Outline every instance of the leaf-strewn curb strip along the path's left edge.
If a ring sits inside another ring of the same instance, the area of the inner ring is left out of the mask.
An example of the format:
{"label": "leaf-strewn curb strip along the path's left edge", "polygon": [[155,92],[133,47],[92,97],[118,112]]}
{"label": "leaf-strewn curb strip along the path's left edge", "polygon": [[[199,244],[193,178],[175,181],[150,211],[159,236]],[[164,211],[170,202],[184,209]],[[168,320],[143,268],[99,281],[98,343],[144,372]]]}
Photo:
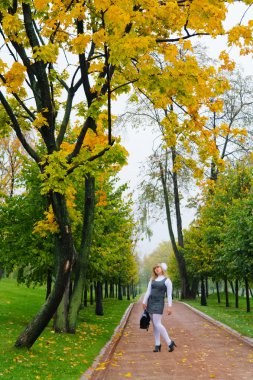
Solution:
{"label": "leaf-strewn curb strip along the path's left edge", "polygon": [[99,352],[98,356],[93,361],[92,366],[89,367],[84,372],[84,374],[80,377],[79,380],[89,380],[91,378],[92,374],[95,372],[95,369],[97,368],[99,362],[101,362],[101,359],[103,359],[103,362],[106,362],[109,360],[109,357],[111,357],[111,355],[115,351],[117,344],[118,344],[118,342],[119,342],[119,340],[123,334],[123,331],[126,327],[126,324],[127,324],[128,319],[130,317],[133,306],[134,306],[134,302],[130,303],[130,305],[126,309],[125,313],[123,314],[123,317],[121,318],[120,323],[115,328],[111,339],[104,345],[104,347]]}

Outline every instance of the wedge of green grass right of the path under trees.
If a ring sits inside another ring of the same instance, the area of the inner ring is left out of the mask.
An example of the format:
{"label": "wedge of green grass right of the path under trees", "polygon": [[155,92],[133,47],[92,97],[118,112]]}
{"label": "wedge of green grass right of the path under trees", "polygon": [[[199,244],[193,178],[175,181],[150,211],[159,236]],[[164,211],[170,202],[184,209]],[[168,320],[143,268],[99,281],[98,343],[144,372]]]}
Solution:
{"label": "wedge of green grass right of the path under trees", "polygon": [[[221,303],[218,304],[216,294],[209,295],[207,298],[207,306],[200,305],[200,299],[195,301],[185,301],[187,304],[195,307],[210,317],[224,323],[232,329],[238,331],[244,336],[253,338],[253,313],[246,312],[246,299],[239,297],[239,308],[236,309],[235,298],[232,294],[229,295],[230,307],[226,307],[225,294],[221,293]],[[252,299],[251,299],[251,307]]]}

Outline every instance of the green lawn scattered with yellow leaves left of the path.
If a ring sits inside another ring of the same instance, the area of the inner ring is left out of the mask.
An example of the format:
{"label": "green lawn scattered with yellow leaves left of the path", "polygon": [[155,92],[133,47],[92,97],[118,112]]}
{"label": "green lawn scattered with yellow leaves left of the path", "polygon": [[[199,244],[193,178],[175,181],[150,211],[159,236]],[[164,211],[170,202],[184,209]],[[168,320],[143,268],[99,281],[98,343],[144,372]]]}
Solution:
{"label": "green lawn scattered with yellow leaves left of the path", "polygon": [[76,334],[55,334],[51,324],[30,350],[16,349],[19,334],[38,312],[45,289],[0,281],[0,379],[78,380],[110,340],[130,301],[104,300],[104,316],[94,305],[80,312]]}

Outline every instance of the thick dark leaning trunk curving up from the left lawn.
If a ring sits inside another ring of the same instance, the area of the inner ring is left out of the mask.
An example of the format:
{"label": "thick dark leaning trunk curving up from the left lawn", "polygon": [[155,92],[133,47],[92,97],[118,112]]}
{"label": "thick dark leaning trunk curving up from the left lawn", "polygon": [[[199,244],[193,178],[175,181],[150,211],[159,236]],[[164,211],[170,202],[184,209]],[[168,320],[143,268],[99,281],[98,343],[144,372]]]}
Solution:
{"label": "thick dark leaning trunk curving up from the left lawn", "polygon": [[60,233],[56,236],[55,284],[39,313],[18,337],[15,343],[15,347],[18,348],[32,347],[56,312],[69,281],[74,258],[74,245],[64,196],[58,193],[52,194],[52,205],[60,228]]}

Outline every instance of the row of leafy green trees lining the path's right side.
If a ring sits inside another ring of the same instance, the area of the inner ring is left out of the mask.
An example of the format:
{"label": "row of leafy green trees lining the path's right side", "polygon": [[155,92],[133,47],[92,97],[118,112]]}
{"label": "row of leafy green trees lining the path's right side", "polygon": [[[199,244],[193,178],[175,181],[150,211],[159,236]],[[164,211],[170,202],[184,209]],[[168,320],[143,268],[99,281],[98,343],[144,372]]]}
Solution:
{"label": "row of leafy green trees lining the path's right side", "polygon": [[[253,281],[253,162],[247,157],[219,175],[207,188],[196,220],[185,232],[185,257],[191,275],[202,282],[202,304],[206,303],[204,279],[235,281],[236,305],[239,284],[245,287],[250,311],[249,285]],[[218,288],[218,287],[217,287]],[[228,296],[227,296],[228,303]]]}

